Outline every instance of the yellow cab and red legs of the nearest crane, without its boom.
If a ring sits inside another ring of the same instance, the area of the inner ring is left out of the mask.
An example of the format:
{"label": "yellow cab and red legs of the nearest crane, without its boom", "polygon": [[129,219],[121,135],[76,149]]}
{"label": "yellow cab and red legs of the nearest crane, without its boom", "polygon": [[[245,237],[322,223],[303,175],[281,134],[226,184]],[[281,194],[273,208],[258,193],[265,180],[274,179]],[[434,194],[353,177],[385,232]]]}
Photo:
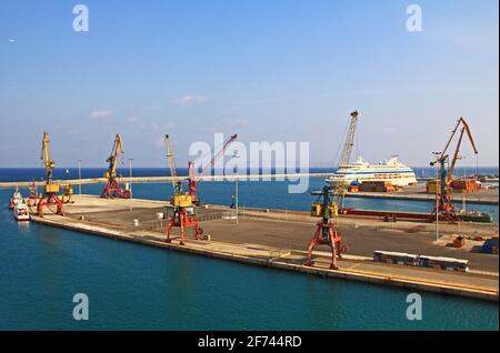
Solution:
{"label": "yellow cab and red legs of the nearest crane, without its boom", "polygon": [[[331,195],[333,194],[333,198]],[[317,223],[314,236],[308,249],[307,266],[313,265],[312,251],[317,245],[328,245],[331,249],[331,270],[338,270],[337,258],[341,258],[342,253],[347,251],[346,245],[342,244],[342,233],[337,226],[337,222],[332,219],[338,215],[338,198],[340,193],[338,190],[331,190],[330,186],[324,185],[319,193],[317,203],[311,206],[311,215],[319,216],[321,220]]]}

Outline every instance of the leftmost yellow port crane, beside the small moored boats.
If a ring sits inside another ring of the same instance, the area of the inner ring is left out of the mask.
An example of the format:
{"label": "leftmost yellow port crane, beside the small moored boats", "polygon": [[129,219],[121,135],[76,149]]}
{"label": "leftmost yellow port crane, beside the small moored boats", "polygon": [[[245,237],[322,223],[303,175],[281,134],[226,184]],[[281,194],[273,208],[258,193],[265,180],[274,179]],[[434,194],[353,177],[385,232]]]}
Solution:
{"label": "leftmost yellow port crane, beside the small moored boats", "polygon": [[43,216],[44,208],[56,206],[56,213],[59,215],[63,215],[62,201],[58,196],[60,186],[58,183],[53,182],[52,179],[56,162],[51,159],[50,155],[49,133],[47,131],[43,132],[42,152],[40,159],[43,161],[46,168],[46,184],[43,185],[43,193],[39,198],[37,203],[37,214],[39,216]]}

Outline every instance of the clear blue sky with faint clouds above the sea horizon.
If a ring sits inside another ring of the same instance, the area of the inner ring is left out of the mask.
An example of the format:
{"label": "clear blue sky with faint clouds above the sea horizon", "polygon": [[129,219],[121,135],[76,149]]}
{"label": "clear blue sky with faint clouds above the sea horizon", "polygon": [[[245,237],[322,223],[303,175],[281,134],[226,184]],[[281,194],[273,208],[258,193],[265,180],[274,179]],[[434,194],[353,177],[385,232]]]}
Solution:
{"label": "clear blue sky with faint clouds above the sea horizon", "polygon": [[43,129],[61,167],[106,167],[116,132],[138,167],[167,164],[169,132],[181,164],[213,131],[309,141],[326,167],[354,109],[369,161],[428,165],[463,115],[498,165],[498,0],[0,0],[0,167],[40,165]]}

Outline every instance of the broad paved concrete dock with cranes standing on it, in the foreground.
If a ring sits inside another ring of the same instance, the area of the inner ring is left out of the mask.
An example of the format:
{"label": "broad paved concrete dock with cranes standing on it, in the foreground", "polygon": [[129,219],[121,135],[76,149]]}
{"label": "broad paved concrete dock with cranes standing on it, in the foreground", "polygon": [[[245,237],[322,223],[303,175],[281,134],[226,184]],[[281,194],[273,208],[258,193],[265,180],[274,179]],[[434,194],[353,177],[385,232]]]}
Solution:
{"label": "broad paved concrete dock with cranes standing on it, in the foreground", "polygon": [[[328,253],[314,253],[314,266],[306,266],[307,244],[316,220],[306,212],[271,210],[240,210],[237,219],[228,208],[199,208],[199,218],[206,240],[188,236],[179,245],[177,236],[166,242],[166,203],[151,200],[100,199],[74,196],[73,204],[64,205],[64,216],[46,213],[33,216],[37,223],[64,228],[82,233],[130,241],[167,250],[182,251],[269,268],[299,271],[326,278],[389,284],[417,291],[431,291],[498,301],[498,256],[476,253],[471,248],[447,246],[454,229],[442,224],[442,236],[433,241],[432,224],[414,222],[386,223],[372,219],[339,218],[339,228],[346,232],[346,243],[353,252],[339,260],[340,270],[329,270]],[[137,220],[137,222],[134,222]],[[430,228],[429,228],[430,226]],[[462,232],[492,234],[491,224],[462,225]],[[394,241],[399,240],[399,241]],[[373,250],[408,251],[429,255],[469,259],[469,273],[389,265],[371,261]]]}

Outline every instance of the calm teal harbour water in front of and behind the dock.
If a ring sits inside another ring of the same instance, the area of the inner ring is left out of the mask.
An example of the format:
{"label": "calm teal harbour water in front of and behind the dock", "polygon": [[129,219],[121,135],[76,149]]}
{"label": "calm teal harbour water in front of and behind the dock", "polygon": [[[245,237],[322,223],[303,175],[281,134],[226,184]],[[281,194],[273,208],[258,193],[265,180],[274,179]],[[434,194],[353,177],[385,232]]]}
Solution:
{"label": "calm teal harbour water in front of and behind the dock", "polygon": [[[311,189],[318,185],[321,180],[313,180]],[[229,204],[233,188],[207,182],[200,194],[206,202]],[[137,184],[134,193],[167,199],[170,184]],[[0,190],[0,204],[10,195]],[[248,206],[290,210],[311,202],[307,194],[288,195],[282,182],[240,183],[240,196]],[[497,303],[422,293],[423,320],[410,322],[404,290],[19,225],[3,206],[0,285],[0,330],[498,330],[499,324]],[[90,321],[72,319],[74,293],[89,295]]]}

